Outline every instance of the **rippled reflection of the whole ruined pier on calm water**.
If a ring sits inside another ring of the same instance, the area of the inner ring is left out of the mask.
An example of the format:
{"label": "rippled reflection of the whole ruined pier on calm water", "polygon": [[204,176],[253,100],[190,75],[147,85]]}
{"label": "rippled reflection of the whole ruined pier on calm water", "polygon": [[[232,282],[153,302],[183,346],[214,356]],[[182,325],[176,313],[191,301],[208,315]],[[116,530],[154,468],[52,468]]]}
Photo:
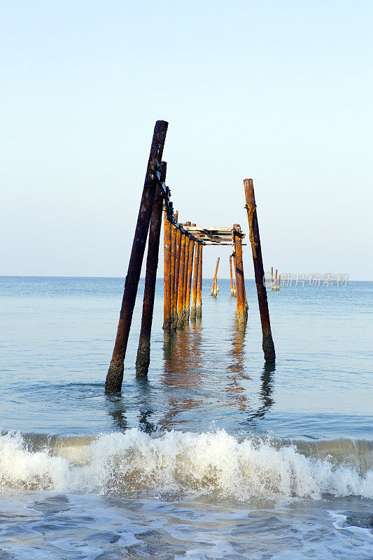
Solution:
{"label": "rippled reflection of the whole ruined pier on calm water", "polygon": [[203,319],[175,333],[162,349],[157,377],[136,377],[118,395],[106,395],[113,427],[156,430],[255,428],[274,405],[274,365],[253,372],[247,334],[232,318],[228,335],[213,340]]}

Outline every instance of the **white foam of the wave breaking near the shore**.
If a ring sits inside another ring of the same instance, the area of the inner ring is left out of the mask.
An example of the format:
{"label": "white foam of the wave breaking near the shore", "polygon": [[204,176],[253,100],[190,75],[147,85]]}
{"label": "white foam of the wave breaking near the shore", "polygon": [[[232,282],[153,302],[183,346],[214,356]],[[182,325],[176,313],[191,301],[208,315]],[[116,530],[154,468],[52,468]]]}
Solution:
{"label": "white foam of the wave breaking near the shore", "polygon": [[9,433],[0,436],[0,489],[195,493],[243,501],[317,500],[325,494],[372,498],[373,471],[335,464],[332,457],[306,456],[295,444],[240,441],[225,430],[150,437],[133,429],[96,439],[60,439],[44,449]]}

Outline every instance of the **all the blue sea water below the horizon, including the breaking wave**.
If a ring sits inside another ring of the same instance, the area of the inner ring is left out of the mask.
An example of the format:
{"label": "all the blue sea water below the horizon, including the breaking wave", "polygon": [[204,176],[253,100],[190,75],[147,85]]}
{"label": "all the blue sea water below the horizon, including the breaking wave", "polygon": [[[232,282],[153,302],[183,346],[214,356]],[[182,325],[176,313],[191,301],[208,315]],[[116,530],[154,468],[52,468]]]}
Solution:
{"label": "all the blue sea water below the horizon, including the breaking wave", "polygon": [[2,277],[0,559],[373,558],[373,283],[268,293],[246,332],[230,281],[106,395],[123,279]]}

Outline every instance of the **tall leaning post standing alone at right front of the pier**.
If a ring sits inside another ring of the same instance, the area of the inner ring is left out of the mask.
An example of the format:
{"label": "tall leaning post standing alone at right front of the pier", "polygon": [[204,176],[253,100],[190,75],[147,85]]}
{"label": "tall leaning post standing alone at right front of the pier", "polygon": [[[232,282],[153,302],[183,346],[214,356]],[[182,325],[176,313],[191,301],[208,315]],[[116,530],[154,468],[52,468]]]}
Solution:
{"label": "tall leaning post standing alone at right front of the pier", "polygon": [[276,353],[272,339],[271,323],[269,321],[269,309],[267,301],[267,290],[265,288],[265,271],[263,268],[262,249],[260,247],[258,214],[256,211],[254,186],[252,179],[244,180],[246,210],[248,216],[248,227],[250,230],[251,248],[253,251],[253,262],[255,272],[255,283],[258,292],[258,303],[260,321],[262,322],[263,352],[266,362],[274,362]]}

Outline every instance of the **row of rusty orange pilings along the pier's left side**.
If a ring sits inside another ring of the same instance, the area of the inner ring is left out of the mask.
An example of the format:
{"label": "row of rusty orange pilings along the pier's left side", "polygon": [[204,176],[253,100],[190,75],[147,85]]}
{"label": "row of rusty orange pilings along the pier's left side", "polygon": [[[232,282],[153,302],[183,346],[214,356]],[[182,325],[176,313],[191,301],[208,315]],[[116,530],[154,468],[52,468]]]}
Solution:
{"label": "row of rusty orange pilings along the pier's left side", "polygon": [[[177,222],[177,213],[174,219]],[[176,228],[164,211],[164,342],[171,342],[189,319],[202,317],[202,247],[202,242]]]}

